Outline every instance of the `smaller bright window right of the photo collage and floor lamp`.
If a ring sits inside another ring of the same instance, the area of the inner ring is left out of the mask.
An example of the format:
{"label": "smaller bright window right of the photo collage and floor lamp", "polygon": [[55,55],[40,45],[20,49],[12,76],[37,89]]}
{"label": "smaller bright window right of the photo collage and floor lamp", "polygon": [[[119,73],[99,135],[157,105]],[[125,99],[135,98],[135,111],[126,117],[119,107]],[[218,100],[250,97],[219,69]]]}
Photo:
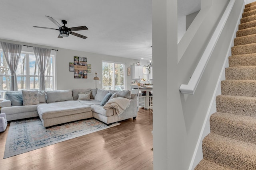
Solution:
{"label": "smaller bright window right of the photo collage and floor lamp", "polygon": [[104,90],[125,90],[125,64],[102,62],[102,89]]}

